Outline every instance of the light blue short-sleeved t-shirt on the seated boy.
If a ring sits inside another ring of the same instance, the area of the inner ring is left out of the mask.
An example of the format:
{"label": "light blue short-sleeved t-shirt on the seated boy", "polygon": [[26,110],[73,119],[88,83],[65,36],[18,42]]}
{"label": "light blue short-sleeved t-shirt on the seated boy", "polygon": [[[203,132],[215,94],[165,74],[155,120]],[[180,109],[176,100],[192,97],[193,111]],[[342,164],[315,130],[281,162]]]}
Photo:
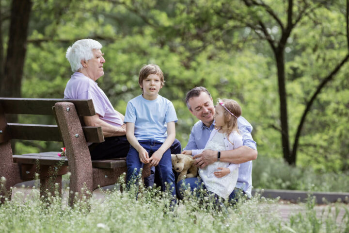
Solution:
{"label": "light blue short-sleeved t-shirt on the seated boy", "polygon": [[127,103],[124,122],[135,124],[138,141],[155,139],[164,142],[167,138],[167,122],[177,122],[174,105],[158,95],[156,100],[146,100],[142,95]]}

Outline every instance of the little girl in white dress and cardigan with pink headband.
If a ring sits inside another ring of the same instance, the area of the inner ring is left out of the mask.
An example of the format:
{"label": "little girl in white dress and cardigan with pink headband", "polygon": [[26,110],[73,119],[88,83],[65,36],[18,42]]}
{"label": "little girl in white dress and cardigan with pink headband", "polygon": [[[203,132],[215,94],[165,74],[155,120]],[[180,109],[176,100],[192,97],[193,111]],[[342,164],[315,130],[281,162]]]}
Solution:
{"label": "little girl in white dress and cardigan with pink headband", "polygon": [[[215,129],[203,150],[185,150],[185,154],[196,155],[204,150],[233,150],[242,146],[242,137],[238,133],[238,117],[241,107],[235,100],[218,100],[215,108]],[[219,157],[219,156],[218,156]],[[238,181],[238,164],[218,161],[199,168],[199,174],[208,191],[226,199],[233,192]]]}

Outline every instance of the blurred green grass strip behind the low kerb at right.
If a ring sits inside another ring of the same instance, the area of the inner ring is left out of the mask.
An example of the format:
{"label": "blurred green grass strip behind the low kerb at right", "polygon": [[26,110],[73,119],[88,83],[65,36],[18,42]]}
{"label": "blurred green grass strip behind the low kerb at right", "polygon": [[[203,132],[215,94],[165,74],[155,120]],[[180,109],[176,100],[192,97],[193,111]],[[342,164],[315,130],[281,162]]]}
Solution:
{"label": "blurred green grass strip behind the low kerb at right", "polygon": [[319,173],[310,167],[289,166],[283,159],[258,156],[253,162],[254,188],[319,192],[349,192],[349,172]]}

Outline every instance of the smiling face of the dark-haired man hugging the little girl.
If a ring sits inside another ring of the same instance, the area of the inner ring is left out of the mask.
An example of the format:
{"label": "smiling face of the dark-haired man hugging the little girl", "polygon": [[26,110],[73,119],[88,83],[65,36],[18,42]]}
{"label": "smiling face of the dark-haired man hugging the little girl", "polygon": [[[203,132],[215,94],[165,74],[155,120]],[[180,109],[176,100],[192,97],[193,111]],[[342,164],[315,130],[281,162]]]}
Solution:
{"label": "smiling face of the dark-haired man hugging the little girl", "polygon": [[206,92],[201,92],[199,96],[189,99],[189,105],[191,108],[189,111],[192,115],[196,116],[207,127],[211,126],[215,113],[212,97]]}

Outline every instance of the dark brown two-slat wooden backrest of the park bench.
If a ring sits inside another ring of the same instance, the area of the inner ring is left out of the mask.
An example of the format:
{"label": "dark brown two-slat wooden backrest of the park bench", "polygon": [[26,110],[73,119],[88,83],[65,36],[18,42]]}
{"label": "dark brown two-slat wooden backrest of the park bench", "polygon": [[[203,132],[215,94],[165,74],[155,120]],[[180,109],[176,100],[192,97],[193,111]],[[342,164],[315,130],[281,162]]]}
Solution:
{"label": "dark brown two-slat wooden backrest of the park bench", "polygon": [[[82,116],[95,115],[92,100],[0,98],[0,115],[2,116],[0,116],[0,144],[11,139],[63,141],[57,125],[8,123],[4,117],[4,114],[55,116],[53,106],[57,102],[74,103],[80,119]],[[84,125],[83,122],[81,124]],[[82,129],[87,142],[104,141],[101,127],[82,126]]]}

